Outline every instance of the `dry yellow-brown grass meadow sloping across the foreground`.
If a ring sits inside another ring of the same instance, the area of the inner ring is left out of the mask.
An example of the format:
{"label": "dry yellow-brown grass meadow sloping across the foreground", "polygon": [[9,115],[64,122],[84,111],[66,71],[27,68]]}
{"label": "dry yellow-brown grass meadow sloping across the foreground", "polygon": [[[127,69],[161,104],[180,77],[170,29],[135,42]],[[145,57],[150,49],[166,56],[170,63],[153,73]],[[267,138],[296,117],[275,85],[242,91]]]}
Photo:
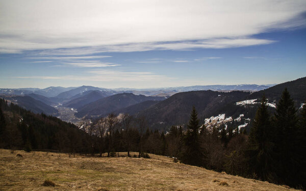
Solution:
{"label": "dry yellow-brown grass meadow sloping across the foreground", "polygon": [[[294,190],[174,163],[165,156],[150,157],[69,157],[0,149],[0,190]],[[45,180],[50,182],[44,185]]]}

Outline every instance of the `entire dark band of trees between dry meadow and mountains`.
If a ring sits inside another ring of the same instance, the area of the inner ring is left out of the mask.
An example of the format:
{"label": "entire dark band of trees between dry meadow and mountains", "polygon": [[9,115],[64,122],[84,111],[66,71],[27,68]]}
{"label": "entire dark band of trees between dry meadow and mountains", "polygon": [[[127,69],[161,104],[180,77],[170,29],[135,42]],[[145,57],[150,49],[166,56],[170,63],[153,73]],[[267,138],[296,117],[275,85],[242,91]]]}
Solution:
{"label": "entire dark band of trees between dry meadow and mountains", "polygon": [[274,113],[263,96],[249,133],[228,126],[207,128],[192,108],[187,129],[152,131],[144,117],[129,114],[94,119],[81,128],[44,114],[33,114],[0,99],[0,146],[116,156],[137,151],[167,155],[175,162],[205,167],[297,188],[306,185],[306,105],[294,106],[287,89]]}

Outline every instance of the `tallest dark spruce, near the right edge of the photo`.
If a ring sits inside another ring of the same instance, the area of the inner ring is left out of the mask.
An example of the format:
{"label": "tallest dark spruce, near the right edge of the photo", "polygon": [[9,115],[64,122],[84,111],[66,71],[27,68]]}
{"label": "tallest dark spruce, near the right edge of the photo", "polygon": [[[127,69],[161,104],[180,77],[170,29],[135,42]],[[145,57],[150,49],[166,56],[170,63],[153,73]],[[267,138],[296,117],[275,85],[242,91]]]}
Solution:
{"label": "tallest dark spruce, near the right edge of the photo", "polygon": [[298,185],[300,180],[301,156],[298,143],[297,116],[294,101],[287,88],[276,105],[275,126],[275,163],[279,183]]}

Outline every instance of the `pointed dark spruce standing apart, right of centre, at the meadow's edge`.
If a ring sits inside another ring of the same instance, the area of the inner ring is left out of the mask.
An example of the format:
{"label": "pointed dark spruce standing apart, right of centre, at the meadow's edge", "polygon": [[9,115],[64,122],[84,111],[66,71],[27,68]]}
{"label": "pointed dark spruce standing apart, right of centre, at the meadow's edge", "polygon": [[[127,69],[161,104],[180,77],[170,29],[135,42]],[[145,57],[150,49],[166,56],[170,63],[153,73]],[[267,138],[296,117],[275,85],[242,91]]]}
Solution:
{"label": "pointed dark spruce standing apart, right of centre, at the meadow's edge", "polygon": [[185,135],[185,149],[182,161],[189,165],[202,166],[202,149],[199,139],[199,119],[195,107],[192,107],[188,129]]}

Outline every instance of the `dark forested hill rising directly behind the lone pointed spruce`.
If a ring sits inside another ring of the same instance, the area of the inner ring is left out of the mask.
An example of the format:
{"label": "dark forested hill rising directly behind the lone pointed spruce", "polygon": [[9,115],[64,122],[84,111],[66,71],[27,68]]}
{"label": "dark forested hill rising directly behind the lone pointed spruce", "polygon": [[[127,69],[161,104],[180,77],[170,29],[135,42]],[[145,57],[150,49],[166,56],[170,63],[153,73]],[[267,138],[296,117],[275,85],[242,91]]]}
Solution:
{"label": "dark forested hill rising directly behind the lone pointed spruce", "polygon": [[220,107],[244,99],[249,92],[191,91],[174,94],[168,99],[148,107],[139,113],[154,128],[180,125],[188,122],[192,106],[200,118],[210,117]]}

